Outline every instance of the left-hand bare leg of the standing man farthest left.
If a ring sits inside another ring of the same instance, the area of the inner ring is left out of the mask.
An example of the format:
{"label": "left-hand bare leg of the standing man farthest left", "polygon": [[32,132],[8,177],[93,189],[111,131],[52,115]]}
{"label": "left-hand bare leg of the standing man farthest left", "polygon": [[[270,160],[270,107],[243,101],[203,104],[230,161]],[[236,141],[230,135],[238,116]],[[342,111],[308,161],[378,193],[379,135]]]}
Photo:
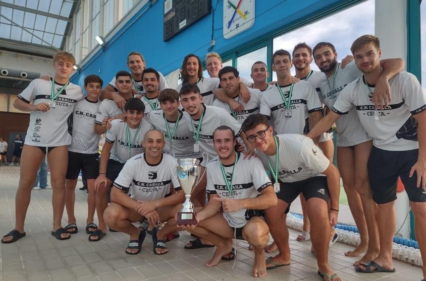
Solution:
{"label": "left-hand bare leg of the standing man farthest left", "polygon": [[[43,157],[44,154],[39,148],[24,145],[24,149],[22,151],[22,158],[24,161],[22,162],[23,165],[20,170],[19,185],[15,197],[15,230],[20,233],[24,232],[24,222],[27,215],[28,205],[30,204],[31,190],[34,185],[38,167],[40,167]],[[12,236],[6,236],[3,240],[7,242],[12,239]]]}

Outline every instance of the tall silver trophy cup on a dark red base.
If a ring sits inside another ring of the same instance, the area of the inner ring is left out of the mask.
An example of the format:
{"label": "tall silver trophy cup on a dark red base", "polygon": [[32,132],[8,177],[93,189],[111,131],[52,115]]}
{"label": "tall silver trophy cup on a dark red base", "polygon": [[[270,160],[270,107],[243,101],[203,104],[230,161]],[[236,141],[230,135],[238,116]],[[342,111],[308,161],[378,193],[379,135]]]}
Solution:
{"label": "tall silver trophy cup on a dark red base", "polygon": [[191,192],[195,187],[197,178],[200,175],[199,160],[196,158],[178,159],[177,174],[183,192],[185,202],[178,213],[177,225],[196,225],[194,204],[191,202]]}

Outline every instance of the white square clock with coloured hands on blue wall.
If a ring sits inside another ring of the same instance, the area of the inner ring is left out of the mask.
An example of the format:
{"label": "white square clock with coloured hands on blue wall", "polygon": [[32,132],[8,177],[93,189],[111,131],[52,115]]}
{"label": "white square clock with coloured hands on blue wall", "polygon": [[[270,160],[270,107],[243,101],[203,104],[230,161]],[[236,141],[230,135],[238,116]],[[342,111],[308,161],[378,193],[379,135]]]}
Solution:
{"label": "white square clock with coloured hands on blue wall", "polygon": [[254,24],[254,0],[224,0],[224,38],[229,39]]}

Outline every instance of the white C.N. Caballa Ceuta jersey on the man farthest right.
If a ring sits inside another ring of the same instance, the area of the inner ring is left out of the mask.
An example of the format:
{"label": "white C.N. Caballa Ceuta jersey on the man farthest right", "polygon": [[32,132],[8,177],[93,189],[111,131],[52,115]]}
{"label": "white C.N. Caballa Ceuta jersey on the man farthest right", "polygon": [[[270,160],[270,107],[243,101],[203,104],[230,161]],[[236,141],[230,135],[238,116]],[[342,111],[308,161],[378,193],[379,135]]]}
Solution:
{"label": "white C.N. Caballa Ceuta jersey on the man farthest right", "polygon": [[416,77],[405,71],[389,80],[389,85],[392,102],[384,110],[375,109],[371,101],[374,87],[368,87],[363,76],[343,89],[332,110],[347,114],[355,106],[362,126],[377,148],[389,151],[417,149],[418,126],[412,115],[426,109],[426,93]]}

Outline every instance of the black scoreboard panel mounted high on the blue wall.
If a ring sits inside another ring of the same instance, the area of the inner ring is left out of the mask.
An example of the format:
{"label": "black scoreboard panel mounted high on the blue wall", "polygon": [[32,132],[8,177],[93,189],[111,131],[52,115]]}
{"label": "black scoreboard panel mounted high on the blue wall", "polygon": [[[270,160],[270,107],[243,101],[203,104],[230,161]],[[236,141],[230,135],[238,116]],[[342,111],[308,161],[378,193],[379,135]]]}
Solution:
{"label": "black scoreboard panel mounted high on the blue wall", "polygon": [[211,13],[211,0],[165,0],[163,40],[176,34]]}

